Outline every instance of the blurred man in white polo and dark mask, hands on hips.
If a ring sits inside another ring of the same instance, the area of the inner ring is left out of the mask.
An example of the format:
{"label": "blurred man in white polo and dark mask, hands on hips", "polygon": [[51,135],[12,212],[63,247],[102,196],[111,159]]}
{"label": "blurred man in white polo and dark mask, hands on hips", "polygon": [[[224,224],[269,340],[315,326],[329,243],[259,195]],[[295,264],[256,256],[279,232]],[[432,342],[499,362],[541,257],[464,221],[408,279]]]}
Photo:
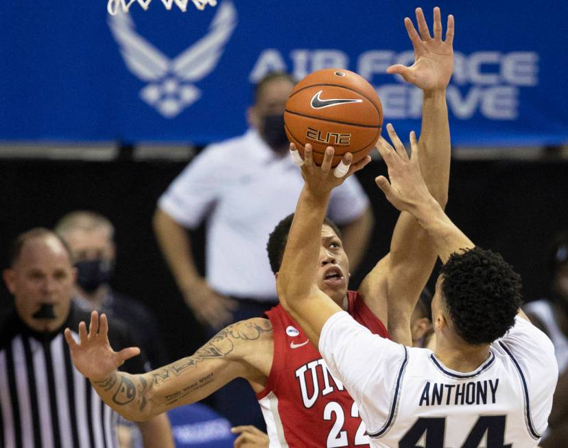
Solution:
{"label": "blurred man in white polo and dark mask, hands on hips", "polygon": [[[205,148],[158,201],[156,238],[185,301],[209,327],[210,337],[278,303],[265,242],[282,217],[294,211],[303,186],[284,131],[285,103],[294,84],[285,73],[265,76],[248,109],[248,131]],[[342,227],[355,271],[373,227],[368,197],[355,177],[334,190],[328,214]],[[204,219],[206,278],[196,267],[187,234]],[[246,381],[233,381],[215,400],[233,425],[265,427]]]}

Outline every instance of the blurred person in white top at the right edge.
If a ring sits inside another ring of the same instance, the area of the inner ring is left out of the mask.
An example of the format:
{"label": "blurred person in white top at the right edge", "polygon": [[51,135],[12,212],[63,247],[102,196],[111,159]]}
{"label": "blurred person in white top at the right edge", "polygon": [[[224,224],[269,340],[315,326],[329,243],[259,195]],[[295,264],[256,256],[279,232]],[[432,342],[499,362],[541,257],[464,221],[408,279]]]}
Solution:
{"label": "blurred person in white top at the right edge", "polygon": [[562,448],[568,440],[568,231],[558,233],[548,250],[549,296],[523,307],[531,322],[554,344],[558,385],[554,392],[545,448]]}

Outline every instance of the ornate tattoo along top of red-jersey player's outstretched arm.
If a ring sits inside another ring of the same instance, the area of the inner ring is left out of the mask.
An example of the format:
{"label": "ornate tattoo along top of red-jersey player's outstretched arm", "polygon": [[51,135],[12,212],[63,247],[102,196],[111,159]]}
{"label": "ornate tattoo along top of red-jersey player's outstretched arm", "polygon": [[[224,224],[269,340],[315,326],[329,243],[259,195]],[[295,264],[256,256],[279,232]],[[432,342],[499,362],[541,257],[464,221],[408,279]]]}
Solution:
{"label": "ornate tattoo along top of red-jersey player's outstretched arm", "polygon": [[[195,368],[200,361],[204,361],[205,359],[226,357],[226,355],[230,354],[230,352],[233,352],[235,349],[233,341],[255,341],[260,339],[263,333],[269,333],[271,331],[272,324],[270,324],[270,320],[268,319],[263,320],[262,324],[259,324],[258,320],[254,320],[252,322],[237,322],[237,324],[223,328],[222,331],[213,336],[209,342],[197,350],[192,356],[180,359],[152,373],[154,384],[160,385],[174,376],[177,377],[184,370]],[[211,378],[212,377],[213,374],[211,373]],[[200,379],[200,381],[202,380],[204,381],[204,379]],[[213,379],[211,379],[211,381],[213,381]],[[208,381],[208,383],[211,381]],[[191,385],[187,387],[189,388]],[[201,387],[201,385],[199,385],[199,387]]]}

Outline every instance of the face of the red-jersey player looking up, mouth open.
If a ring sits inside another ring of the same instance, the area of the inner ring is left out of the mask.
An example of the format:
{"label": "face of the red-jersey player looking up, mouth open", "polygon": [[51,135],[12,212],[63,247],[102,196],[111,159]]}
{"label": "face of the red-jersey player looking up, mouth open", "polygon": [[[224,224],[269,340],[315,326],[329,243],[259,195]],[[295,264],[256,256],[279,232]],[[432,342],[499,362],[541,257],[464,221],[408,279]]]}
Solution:
{"label": "face of the red-jersey player looking up, mouth open", "polygon": [[343,244],[329,225],[322,227],[322,245],[318,260],[318,287],[339,305],[347,293],[349,260]]}

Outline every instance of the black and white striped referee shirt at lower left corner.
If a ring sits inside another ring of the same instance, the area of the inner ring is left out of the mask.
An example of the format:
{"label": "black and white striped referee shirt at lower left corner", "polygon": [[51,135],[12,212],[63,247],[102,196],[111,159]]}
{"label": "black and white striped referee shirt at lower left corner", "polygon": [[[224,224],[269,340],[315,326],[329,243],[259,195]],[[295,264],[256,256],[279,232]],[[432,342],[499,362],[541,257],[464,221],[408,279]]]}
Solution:
{"label": "black and white striped referee shirt at lower left corner", "polygon": [[[89,318],[73,305],[55,333],[30,330],[15,311],[0,325],[0,447],[118,447],[119,416],[75,369],[63,336]],[[134,345],[125,326],[109,325],[115,350]],[[129,361],[124,370],[144,371],[141,357]]]}

